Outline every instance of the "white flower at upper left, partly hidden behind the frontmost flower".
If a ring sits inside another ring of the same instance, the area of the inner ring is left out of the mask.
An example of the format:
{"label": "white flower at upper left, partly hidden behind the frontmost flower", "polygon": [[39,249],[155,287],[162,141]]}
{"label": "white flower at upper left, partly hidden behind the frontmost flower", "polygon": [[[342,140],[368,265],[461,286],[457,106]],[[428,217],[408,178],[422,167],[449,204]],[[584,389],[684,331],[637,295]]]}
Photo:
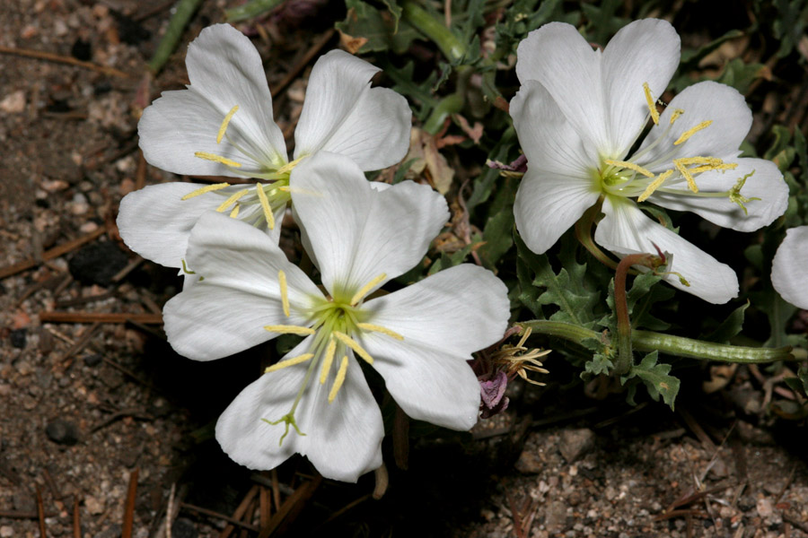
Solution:
{"label": "white flower at upper left, partly hidden behind the frontmost flower", "polygon": [[209,210],[249,222],[277,242],[290,172],[315,152],[346,155],[366,171],[391,166],[408,151],[407,100],[371,88],[379,69],[347,52],[332,50],[312,68],[291,162],[250,39],[216,24],[189,45],[185,62],[188,90],[163,92],[138,124],[146,161],[177,174],[273,182],[165,183],[127,195],[120,204],[121,237],[158,264],[180,267],[190,229]]}

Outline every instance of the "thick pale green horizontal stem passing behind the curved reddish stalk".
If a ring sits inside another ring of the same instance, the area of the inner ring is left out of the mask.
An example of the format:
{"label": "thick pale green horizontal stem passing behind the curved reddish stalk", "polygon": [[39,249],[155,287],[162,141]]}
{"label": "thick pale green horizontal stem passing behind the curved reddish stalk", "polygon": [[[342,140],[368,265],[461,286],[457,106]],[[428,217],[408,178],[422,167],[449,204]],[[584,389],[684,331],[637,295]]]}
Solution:
{"label": "thick pale green horizontal stem passing behind the curved reddish stalk", "polygon": [[[534,319],[520,322],[518,325],[531,327],[533,333],[556,336],[570,342],[582,343],[587,338],[598,338],[600,333],[586,329],[579,325],[572,325],[560,321],[545,321]],[[723,343],[704,342],[672,334],[653,333],[651,331],[634,330],[631,333],[631,343],[637,351],[660,351],[673,357],[716,360],[719,362],[740,362],[747,364],[760,364],[776,362],[777,360],[794,360],[791,346],[781,348],[753,348],[740,345],[726,345]]]}

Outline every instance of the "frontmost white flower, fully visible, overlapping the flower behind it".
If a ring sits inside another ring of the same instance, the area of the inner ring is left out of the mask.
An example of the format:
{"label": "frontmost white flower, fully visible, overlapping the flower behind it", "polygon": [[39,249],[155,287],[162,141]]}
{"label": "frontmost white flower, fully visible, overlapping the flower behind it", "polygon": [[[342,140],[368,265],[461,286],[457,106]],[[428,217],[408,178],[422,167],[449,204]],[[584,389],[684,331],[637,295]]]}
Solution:
{"label": "frontmost white flower, fully visible, overlapping the flower behind it", "polygon": [[191,231],[202,278],[165,306],[176,351],[214,360],[278,334],[302,343],[224,411],[216,438],[236,462],[270,469],[294,453],[324,476],[356,482],[382,464],[382,415],[357,358],[372,365],[409,416],[468,430],[479,383],[466,360],[505,332],[505,285],[458,265],[371,296],[417,265],[448,218],[444,198],[406,181],[374,190],[354,162],[319,152],[292,188],[324,294],[274,241],[206,213]]}

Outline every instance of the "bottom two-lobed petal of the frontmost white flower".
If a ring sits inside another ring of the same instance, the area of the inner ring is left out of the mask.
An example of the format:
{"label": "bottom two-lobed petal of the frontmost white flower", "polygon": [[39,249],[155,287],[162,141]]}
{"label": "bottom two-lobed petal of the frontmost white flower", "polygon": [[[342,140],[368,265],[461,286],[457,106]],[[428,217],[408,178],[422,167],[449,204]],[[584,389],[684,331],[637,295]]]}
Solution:
{"label": "bottom two-lobed petal of the frontmost white flower", "polygon": [[[310,337],[289,355],[308,350]],[[332,404],[330,386],[321,386],[316,376],[309,380],[294,413],[294,428],[279,445],[285,424],[277,421],[294,404],[309,363],[280,369],[259,377],[236,396],[216,423],[216,439],[236,463],[250,469],[272,469],[294,453],[307,456],[326,478],[356,482],[357,478],[382,464],[382,413],[373,400],[362,369],[349,359],[345,384]]]}

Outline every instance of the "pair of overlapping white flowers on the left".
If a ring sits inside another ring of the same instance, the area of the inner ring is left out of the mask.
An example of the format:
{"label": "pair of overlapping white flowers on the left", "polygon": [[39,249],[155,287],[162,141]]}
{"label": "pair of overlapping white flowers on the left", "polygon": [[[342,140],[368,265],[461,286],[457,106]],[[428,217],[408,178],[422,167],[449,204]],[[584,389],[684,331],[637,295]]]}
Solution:
{"label": "pair of overlapping white flowers on the left", "polygon": [[[449,217],[430,187],[373,188],[364,178],[407,152],[406,101],[370,88],[376,69],[363,60],[322,56],[287,161],[247,38],[226,25],[203,30],[187,64],[189,89],[145,110],[145,158],[177,173],[252,181],[127,195],[121,237],[158,263],[193,268],[193,285],[164,308],[169,342],[182,355],[215,360],[279,334],[303,336],[224,411],[216,425],[224,451],[254,469],[299,453],[344,481],[379,467],[382,413],[360,361],[410,417],[470,429],[480,389],[467,360],[505,333],[507,291],[477,265],[381,291],[421,261]],[[321,287],[277,246],[289,203]]]}

